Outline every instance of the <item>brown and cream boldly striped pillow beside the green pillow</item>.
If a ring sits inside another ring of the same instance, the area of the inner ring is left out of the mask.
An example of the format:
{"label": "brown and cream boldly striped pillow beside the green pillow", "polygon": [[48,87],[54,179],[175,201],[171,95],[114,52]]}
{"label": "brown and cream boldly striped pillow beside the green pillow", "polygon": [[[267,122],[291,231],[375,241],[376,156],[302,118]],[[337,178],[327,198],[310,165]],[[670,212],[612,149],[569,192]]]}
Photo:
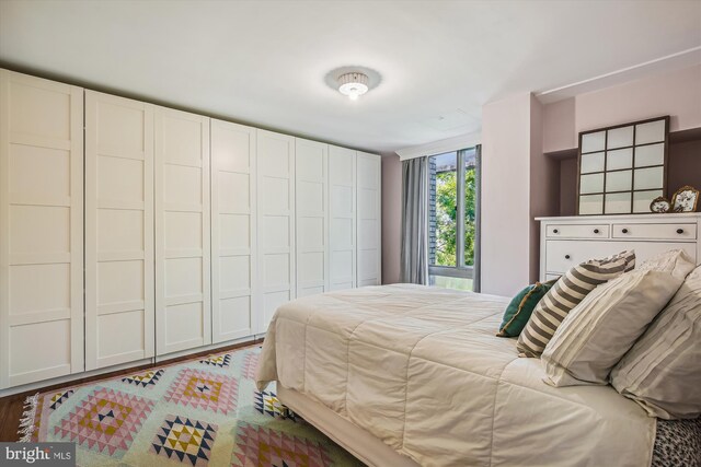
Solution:
{"label": "brown and cream boldly striped pillow beside the green pillow", "polygon": [[570,269],[533,310],[516,348],[520,357],[540,357],[567,313],[598,284],[616,279],[635,267],[635,252],[627,250],[604,259],[591,259]]}

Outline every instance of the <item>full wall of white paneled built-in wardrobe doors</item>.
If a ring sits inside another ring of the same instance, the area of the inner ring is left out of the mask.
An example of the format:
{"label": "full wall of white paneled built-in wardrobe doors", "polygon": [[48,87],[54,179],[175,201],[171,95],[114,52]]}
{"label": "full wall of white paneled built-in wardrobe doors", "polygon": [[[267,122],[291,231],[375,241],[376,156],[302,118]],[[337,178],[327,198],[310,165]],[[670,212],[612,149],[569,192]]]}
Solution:
{"label": "full wall of white paneled built-in wardrobe doors", "polygon": [[0,394],[379,284],[380,179],[375,154],[0,70]]}

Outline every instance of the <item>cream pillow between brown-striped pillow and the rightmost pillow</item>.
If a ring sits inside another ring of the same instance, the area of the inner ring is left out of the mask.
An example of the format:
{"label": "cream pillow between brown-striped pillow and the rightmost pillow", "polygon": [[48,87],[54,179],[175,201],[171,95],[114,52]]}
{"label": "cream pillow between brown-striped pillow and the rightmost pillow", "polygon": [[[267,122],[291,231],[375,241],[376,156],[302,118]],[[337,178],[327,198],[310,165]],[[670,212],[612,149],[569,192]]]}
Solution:
{"label": "cream pillow between brown-striped pillow and the rightmost pillow", "polygon": [[611,369],[633,347],[683,282],[669,272],[632,271],[594,289],[558,327],[541,359],[552,386],[608,384]]}

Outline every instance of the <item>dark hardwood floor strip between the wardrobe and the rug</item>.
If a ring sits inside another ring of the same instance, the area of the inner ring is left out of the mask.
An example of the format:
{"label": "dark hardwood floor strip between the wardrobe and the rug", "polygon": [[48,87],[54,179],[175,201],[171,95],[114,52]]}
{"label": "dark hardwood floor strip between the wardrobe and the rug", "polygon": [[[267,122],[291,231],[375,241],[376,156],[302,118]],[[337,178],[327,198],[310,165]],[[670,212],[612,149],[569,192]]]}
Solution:
{"label": "dark hardwood floor strip between the wardrobe and the rug", "polygon": [[24,399],[27,396],[32,396],[36,393],[44,393],[46,390],[60,389],[61,387],[68,386],[77,386],[81,384],[92,383],[100,380],[110,380],[117,376],[123,376],[127,374],[131,374],[134,372],[138,372],[141,370],[156,369],[161,367],[163,365],[182,362],[185,360],[192,360],[199,357],[209,355],[211,353],[220,353],[226,352],[228,350],[240,349],[243,347],[260,345],[263,342],[263,339],[251,340],[248,342],[241,342],[233,346],[222,347],[220,349],[207,350],[204,352],[197,352],[185,357],[179,357],[176,359],[171,359],[166,361],[159,362],[156,365],[147,364],[140,366],[134,366],[126,370],[119,370],[112,373],[105,373],[96,376],[84,377],[80,380],[74,380],[69,383],[55,384],[51,386],[42,387],[34,390],[28,390],[26,393],[15,394],[14,396],[8,396],[0,398],[0,442],[7,441],[18,441],[18,428],[20,427],[20,418],[22,417]]}

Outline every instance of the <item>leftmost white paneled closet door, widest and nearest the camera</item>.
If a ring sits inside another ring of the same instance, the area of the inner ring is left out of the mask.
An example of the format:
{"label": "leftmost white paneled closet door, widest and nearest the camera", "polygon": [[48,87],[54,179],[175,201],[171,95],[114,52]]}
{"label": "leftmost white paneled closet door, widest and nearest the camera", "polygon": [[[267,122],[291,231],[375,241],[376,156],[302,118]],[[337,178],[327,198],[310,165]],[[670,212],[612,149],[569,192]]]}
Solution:
{"label": "leftmost white paneled closet door, widest and nearest the camera", "polygon": [[0,70],[0,388],[83,365],[83,90]]}

